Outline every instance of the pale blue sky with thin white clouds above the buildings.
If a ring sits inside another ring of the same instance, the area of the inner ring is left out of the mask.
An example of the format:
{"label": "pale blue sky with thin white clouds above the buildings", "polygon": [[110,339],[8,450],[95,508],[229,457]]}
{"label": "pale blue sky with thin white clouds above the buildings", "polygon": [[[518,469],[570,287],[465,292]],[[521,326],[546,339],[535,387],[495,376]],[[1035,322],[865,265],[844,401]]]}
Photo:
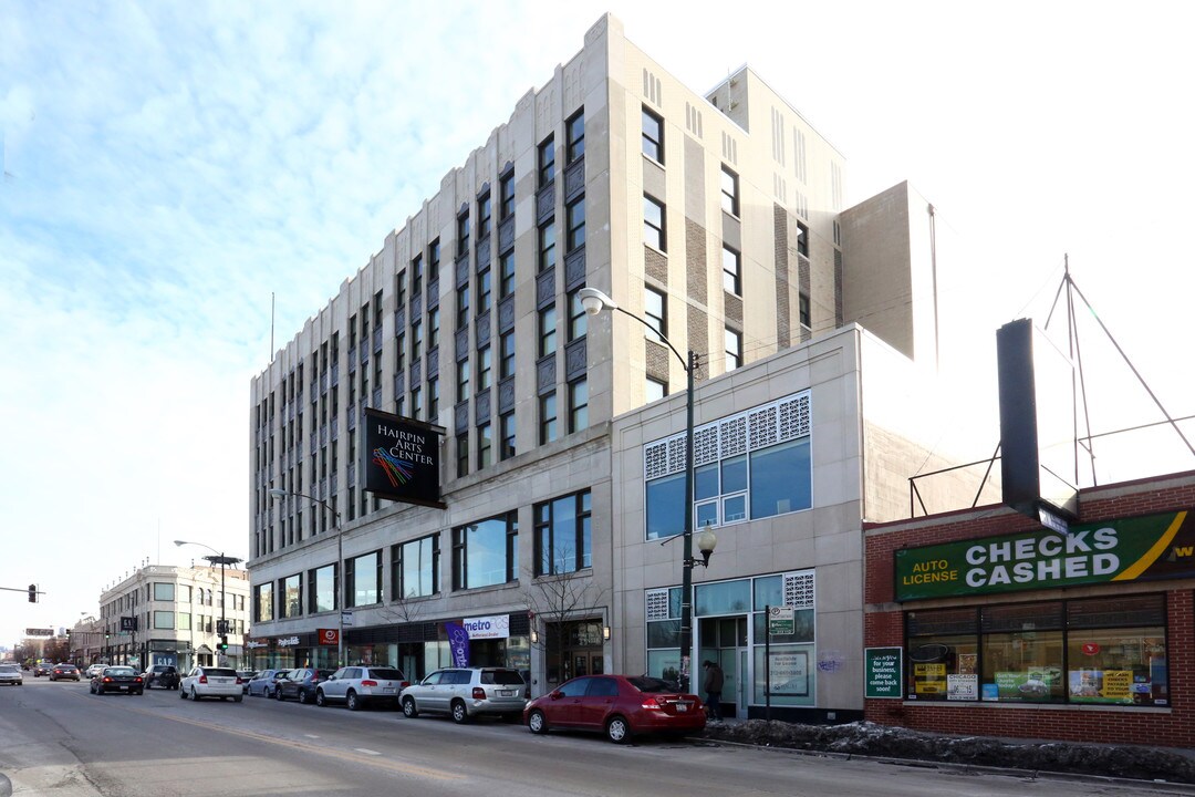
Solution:
{"label": "pale blue sky with thin white clouds above the buildings", "polygon": [[[847,204],[934,204],[973,386],[944,437],[991,425],[995,329],[1044,325],[1067,258],[1092,433],[1195,415],[1195,6],[433,7],[0,0],[0,587],[44,593],[0,591],[0,646],[212,552],[172,540],[249,554],[250,380],[606,12],[697,92],[749,63],[844,154]],[[1134,437],[1101,483],[1195,468]]]}

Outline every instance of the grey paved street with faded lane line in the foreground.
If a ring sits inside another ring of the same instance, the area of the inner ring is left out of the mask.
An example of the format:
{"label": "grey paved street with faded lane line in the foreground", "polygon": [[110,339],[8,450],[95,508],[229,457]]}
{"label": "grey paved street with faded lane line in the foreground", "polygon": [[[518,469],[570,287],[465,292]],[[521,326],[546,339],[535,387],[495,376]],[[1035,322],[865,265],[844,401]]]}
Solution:
{"label": "grey paved street with faded lane line in the foreground", "polygon": [[[0,688],[0,773],[13,795],[1140,795],[1034,780],[840,761],[705,743],[532,736],[501,722],[454,725],[264,698],[191,703],[178,693],[92,695],[26,678]],[[0,784],[4,781],[0,780]],[[0,795],[6,793],[0,786]]]}

